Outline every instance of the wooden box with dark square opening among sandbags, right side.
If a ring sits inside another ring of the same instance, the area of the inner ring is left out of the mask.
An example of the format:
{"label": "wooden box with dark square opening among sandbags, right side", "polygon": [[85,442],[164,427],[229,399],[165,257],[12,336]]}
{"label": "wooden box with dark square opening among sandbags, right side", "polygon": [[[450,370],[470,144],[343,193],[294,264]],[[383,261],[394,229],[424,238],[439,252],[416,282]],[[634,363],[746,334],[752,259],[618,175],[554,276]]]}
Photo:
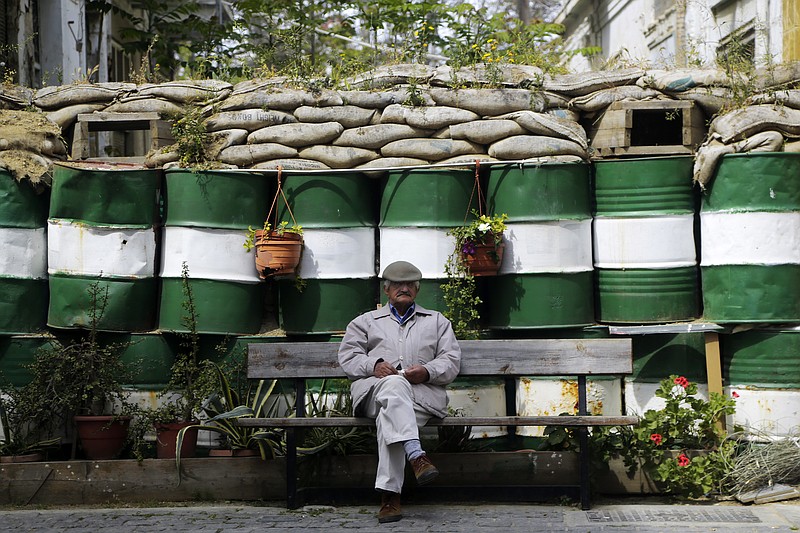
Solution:
{"label": "wooden box with dark square opening among sandbags, right side", "polygon": [[707,134],[694,102],[614,102],[588,128],[595,157],[694,154]]}

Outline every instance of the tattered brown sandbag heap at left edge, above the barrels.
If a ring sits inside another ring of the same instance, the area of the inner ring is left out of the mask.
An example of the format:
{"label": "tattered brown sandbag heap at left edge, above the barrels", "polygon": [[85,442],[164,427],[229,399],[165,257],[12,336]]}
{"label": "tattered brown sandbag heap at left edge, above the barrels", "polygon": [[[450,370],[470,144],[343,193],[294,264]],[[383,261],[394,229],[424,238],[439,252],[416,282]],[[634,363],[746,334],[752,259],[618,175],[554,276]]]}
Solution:
{"label": "tattered brown sandbag heap at left edge, above the barrels", "polygon": [[0,110],[0,168],[17,181],[48,183],[53,160],[65,158],[58,124],[36,111]]}

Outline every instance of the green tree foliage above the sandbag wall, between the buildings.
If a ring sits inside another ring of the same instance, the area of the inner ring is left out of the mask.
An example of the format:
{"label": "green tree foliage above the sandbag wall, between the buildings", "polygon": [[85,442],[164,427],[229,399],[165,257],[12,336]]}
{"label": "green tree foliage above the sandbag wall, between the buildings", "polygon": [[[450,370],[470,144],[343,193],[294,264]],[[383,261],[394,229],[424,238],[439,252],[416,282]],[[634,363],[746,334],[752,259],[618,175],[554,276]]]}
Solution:
{"label": "green tree foliage above the sandbag wall, between the buildings", "polygon": [[283,74],[324,80],[387,63],[465,66],[489,58],[557,70],[566,57],[563,28],[538,18],[554,14],[555,0],[530,2],[527,23],[514,15],[524,11],[519,0],[490,7],[456,0],[240,0],[222,20],[202,16],[197,2],[131,5],[126,12],[92,0],[87,8],[113,11],[130,23],[124,46],[144,57],[157,79]]}

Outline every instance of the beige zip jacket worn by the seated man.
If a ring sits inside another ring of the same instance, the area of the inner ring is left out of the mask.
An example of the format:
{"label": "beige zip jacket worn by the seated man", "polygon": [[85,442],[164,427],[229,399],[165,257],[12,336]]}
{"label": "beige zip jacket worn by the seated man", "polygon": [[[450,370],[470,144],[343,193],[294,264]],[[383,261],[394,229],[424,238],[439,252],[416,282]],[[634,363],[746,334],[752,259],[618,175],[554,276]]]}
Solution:
{"label": "beige zip jacket worn by the seated man", "polygon": [[348,324],[339,346],[339,364],[353,381],[350,393],[357,414],[378,381],[372,372],[379,359],[395,368],[423,365],[430,379],[412,386],[414,400],[434,416],[447,415],[445,386],[458,376],[461,349],[450,321],[441,313],[417,304],[414,316],[401,326],[384,305]]}

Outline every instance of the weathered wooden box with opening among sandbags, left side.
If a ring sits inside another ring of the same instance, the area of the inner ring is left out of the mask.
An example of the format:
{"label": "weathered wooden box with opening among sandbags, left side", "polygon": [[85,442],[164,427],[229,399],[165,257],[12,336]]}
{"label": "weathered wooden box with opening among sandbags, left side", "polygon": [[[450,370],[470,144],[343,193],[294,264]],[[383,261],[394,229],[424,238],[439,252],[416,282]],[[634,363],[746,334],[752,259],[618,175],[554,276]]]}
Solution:
{"label": "weathered wooden box with opening among sandbags, left side", "polygon": [[[72,159],[88,159],[89,132],[149,131],[150,149],[156,150],[174,143],[170,125],[158,113],[81,113],[72,136]],[[143,162],[146,154],[127,157],[95,157],[103,161]]]}

